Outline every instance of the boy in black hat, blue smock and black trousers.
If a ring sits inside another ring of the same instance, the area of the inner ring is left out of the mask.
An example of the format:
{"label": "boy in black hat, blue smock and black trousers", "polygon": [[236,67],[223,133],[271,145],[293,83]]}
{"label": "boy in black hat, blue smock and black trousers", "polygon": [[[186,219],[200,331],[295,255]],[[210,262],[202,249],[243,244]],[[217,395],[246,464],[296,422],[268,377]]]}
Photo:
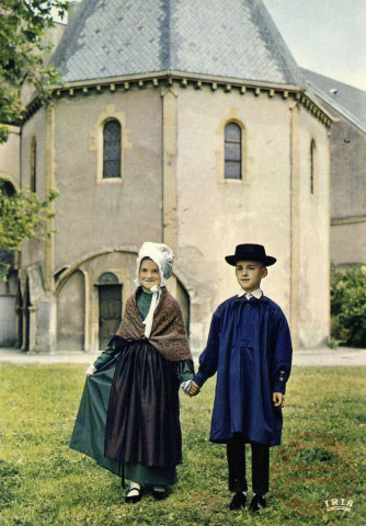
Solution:
{"label": "boy in black hat, blue smock and black trousers", "polygon": [[190,396],[217,371],[210,442],[227,444],[230,510],[247,502],[245,444],[252,448],[250,508],[266,506],[270,447],[281,444],[282,408],[291,365],[291,342],[281,308],[263,296],[261,281],[276,262],[261,244],[239,244],[225,258],[242,288],[213,316]]}

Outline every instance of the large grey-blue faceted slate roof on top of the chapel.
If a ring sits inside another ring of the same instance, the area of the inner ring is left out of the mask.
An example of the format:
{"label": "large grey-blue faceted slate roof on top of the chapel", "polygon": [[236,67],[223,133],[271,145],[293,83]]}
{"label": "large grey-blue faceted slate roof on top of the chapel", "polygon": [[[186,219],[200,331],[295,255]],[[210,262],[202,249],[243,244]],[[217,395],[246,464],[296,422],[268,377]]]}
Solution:
{"label": "large grey-blue faceted slate roof on top of the chapel", "polygon": [[262,0],[83,0],[53,61],[64,82],[167,70],[302,82]]}

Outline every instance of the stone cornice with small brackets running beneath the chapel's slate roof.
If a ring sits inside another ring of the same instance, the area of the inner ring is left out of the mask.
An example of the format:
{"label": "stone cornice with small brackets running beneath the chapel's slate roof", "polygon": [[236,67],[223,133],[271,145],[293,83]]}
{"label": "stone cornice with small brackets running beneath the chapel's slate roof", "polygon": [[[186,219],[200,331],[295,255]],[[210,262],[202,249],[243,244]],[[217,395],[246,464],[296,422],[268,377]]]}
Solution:
{"label": "stone cornice with small brackets running beneath the chapel's slate roof", "polygon": [[[111,77],[103,80],[84,80],[79,82],[65,83],[61,87],[55,87],[54,98],[76,95],[98,94],[108,91],[111,93],[117,91],[128,91],[133,88],[146,89],[148,87],[173,85],[178,83],[181,88],[194,88],[202,90],[204,87],[210,88],[213,91],[222,90],[227,93],[239,91],[242,95],[245,93],[254,93],[259,95],[267,95],[274,98],[279,95],[284,99],[294,99],[317,118],[319,118],[327,127],[333,123],[333,118],[314,99],[306,92],[305,87],[295,84],[278,84],[270,82],[261,82],[254,80],[241,80],[236,78],[213,77],[198,73],[185,73],[182,71],[157,71],[149,73],[129,75],[125,77]],[[24,119],[30,118],[41,107],[39,101],[35,98],[27,106]]]}

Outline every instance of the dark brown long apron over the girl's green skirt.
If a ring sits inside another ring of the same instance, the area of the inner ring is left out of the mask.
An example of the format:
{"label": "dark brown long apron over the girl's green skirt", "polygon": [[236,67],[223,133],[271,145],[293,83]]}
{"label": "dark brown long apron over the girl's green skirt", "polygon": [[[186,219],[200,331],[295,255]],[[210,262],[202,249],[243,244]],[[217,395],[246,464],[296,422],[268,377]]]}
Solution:
{"label": "dark brown long apron over the girl's green skirt", "polygon": [[178,362],[150,343],[124,342],[105,428],[105,457],[124,464],[182,464]]}

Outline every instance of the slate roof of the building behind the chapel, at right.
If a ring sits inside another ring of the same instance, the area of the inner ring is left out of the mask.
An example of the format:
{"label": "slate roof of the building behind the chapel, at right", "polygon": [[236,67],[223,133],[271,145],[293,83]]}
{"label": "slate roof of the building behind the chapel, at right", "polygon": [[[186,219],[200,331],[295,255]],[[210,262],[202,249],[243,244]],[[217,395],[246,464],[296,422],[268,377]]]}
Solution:
{"label": "slate roof of the building behind the chapel, at right", "polygon": [[307,69],[301,71],[318,98],[366,133],[366,91]]}

